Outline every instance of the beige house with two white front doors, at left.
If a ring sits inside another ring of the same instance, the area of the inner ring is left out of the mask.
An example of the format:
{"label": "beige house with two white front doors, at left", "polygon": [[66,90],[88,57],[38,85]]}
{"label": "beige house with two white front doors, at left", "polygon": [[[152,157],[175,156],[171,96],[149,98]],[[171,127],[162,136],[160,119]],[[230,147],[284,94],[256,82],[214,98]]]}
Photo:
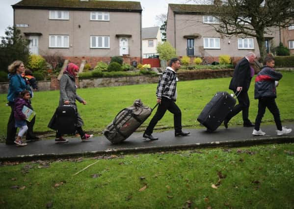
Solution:
{"label": "beige house with two white front doors, at left", "polygon": [[31,40],[32,54],[58,52],[77,64],[113,56],[141,62],[140,2],[21,0],[12,7],[14,25]]}

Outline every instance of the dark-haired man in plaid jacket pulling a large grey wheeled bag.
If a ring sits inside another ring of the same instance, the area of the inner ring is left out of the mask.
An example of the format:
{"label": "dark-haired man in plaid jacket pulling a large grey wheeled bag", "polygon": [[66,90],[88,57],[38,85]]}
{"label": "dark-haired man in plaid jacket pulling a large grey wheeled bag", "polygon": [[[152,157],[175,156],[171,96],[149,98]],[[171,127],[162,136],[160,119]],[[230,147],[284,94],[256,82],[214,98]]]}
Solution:
{"label": "dark-haired man in plaid jacket pulling a large grey wheeled bag", "polygon": [[157,108],[156,114],[151,119],[148,127],[146,128],[143,137],[150,140],[157,140],[157,137],[153,137],[153,129],[157,122],[164,116],[166,110],[174,114],[174,128],[175,136],[187,136],[189,132],[182,131],[182,113],[180,108],[176,105],[177,100],[177,73],[176,71],[181,68],[180,60],[178,58],[172,58],[169,63],[169,67],[162,73],[158,86],[157,86]]}

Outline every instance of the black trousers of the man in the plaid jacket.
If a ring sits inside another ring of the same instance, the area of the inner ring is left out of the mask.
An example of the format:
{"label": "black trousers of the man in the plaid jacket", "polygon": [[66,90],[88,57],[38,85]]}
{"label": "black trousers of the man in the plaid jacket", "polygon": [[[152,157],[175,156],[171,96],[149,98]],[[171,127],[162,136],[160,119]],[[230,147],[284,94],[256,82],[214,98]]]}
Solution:
{"label": "black trousers of the man in the plaid jacket", "polygon": [[178,133],[182,131],[182,112],[180,108],[176,105],[174,100],[168,99],[163,96],[161,98],[161,104],[159,104],[155,115],[151,119],[148,127],[146,128],[146,131],[145,131],[146,134],[150,135],[153,133],[154,127],[156,126],[158,121],[160,121],[160,119],[164,116],[167,110],[171,112],[172,114],[174,114],[175,132]]}

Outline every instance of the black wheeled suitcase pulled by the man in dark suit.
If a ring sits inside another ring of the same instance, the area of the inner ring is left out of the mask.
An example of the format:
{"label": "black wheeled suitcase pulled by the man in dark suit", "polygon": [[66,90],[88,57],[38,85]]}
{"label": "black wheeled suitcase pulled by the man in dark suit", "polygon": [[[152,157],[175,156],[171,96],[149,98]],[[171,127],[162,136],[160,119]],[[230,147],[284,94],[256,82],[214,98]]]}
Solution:
{"label": "black wheeled suitcase pulled by the man in dark suit", "polygon": [[235,104],[236,99],[232,95],[227,92],[217,92],[204,107],[197,120],[209,131],[214,131],[232,111]]}

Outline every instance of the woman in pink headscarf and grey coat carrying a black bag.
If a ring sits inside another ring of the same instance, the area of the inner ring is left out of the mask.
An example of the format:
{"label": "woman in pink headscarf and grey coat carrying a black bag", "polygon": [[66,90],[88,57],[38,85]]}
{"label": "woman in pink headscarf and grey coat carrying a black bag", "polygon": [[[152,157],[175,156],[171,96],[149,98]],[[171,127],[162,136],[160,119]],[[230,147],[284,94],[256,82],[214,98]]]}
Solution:
{"label": "woman in pink headscarf and grey coat carrying a black bag", "polygon": [[[60,98],[59,98],[59,106],[62,105],[72,105],[77,109],[76,100],[78,100],[83,105],[87,104],[85,100],[83,100],[77,93],[76,86],[76,75],[79,72],[79,67],[73,63],[69,63],[66,69],[63,72],[63,75],[59,81],[59,89],[60,89]],[[83,125],[83,120],[81,119],[78,113],[78,122],[77,122],[77,131],[80,134],[80,138],[82,141],[90,139],[93,135],[85,134],[81,128]],[[66,124],[65,124],[66,125]],[[55,143],[64,143],[68,142],[67,139],[64,139],[58,131],[56,132]]]}

